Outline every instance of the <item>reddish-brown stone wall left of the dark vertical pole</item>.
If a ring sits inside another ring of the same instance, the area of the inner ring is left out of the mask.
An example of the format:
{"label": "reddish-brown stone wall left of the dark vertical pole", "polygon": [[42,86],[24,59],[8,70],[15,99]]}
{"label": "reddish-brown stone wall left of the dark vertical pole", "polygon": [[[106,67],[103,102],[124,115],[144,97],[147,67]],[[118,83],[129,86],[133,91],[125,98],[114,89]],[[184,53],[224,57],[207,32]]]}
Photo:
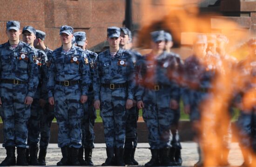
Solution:
{"label": "reddish-brown stone wall left of the dark vertical pole", "polygon": [[88,47],[93,47],[106,39],[107,27],[122,26],[125,0],[0,0],[0,13],[0,43],[7,41],[6,22],[19,20],[21,28],[45,31],[51,49],[61,45],[62,25],[85,31]]}

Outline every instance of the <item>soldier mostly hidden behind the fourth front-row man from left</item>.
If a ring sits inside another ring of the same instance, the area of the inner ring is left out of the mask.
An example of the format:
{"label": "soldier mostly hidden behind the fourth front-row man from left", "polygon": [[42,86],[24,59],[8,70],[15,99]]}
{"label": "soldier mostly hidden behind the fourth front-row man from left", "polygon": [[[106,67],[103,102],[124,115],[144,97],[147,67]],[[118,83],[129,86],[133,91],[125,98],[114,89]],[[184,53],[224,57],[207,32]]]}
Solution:
{"label": "soldier mostly hidden behind the fourth front-row man from left", "polygon": [[[173,52],[171,52],[171,48],[173,46],[173,41],[172,41],[172,36],[170,33],[165,32],[164,33],[164,37],[165,37],[165,52],[169,53],[171,56],[174,56],[177,62],[178,66],[182,66],[181,64],[183,63],[182,60],[180,59],[180,56],[178,54],[175,54]],[[178,70],[173,69],[173,70]],[[173,71],[172,70],[172,71]],[[175,79],[176,78],[176,79]],[[173,82],[176,82],[176,84],[178,84],[179,81],[179,76],[173,78],[174,80],[172,80]],[[180,94],[177,96],[177,98],[175,99],[178,104],[180,104]],[[181,143],[180,143],[180,136],[178,133],[178,126],[179,126],[179,120],[181,117],[181,113],[180,113],[180,106],[178,106],[178,108],[174,111],[174,120],[173,120],[173,127],[171,129],[172,134],[173,134],[173,140],[172,140],[172,147],[170,148],[170,152],[169,152],[169,157],[170,160],[172,162],[175,162],[177,166],[181,166],[182,165],[182,156],[181,156]]]}

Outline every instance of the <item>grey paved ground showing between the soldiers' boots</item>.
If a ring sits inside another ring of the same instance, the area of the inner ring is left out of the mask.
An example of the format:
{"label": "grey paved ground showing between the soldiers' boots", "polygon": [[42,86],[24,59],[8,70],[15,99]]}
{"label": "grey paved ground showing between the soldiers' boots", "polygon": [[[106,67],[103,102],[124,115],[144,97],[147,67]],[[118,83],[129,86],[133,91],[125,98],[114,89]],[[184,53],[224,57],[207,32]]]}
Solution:
{"label": "grey paved ground showing between the soldiers' boots", "polygon": [[[101,164],[107,158],[105,147],[105,144],[95,144],[92,158],[95,166],[101,166]],[[138,144],[138,149],[135,152],[135,159],[139,162],[139,166],[143,166],[151,158],[148,147],[148,143]],[[182,147],[182,167],[193,166],[198,160],[196,144],[194,142],[183,142]],[[5,158],[5,153],[5,149],[0,147],[0,161]],[[56,163],[61,159],[61,150],[57,147],[57,144],[49,145],[46,158],[47,166],[56,166]],[[232,143],[231,145],[229,162],[232,166],[239,166],[243,162],[242,154],[237,143]]]}

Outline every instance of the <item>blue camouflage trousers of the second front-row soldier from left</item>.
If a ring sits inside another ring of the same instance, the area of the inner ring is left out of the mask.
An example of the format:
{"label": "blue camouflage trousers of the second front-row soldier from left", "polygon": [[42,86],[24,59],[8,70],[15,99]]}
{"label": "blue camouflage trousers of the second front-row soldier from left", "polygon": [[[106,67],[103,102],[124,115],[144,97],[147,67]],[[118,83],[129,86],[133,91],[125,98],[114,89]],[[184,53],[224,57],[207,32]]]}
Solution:
{"label": "blue camouflage trousers of the second front-row soldier from left", "polygon": [[54,115],[59,127],[58,147],[81,147],[81,119],[83,106],[80,102],[80,86],[54,87]]}

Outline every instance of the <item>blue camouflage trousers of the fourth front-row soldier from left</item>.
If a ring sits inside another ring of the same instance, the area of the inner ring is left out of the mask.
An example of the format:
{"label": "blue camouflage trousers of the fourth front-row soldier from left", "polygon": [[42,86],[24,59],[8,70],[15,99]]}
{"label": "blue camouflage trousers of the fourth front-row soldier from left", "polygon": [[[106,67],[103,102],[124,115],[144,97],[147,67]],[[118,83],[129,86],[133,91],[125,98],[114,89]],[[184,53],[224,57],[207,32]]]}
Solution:
{"label": "blue camouflage trousers of the fourth front-row soldier from left", "polygon": [[151,149],[171,147],[171,125],[174,111],[170,109],[171,97],[165,89],[147,90],[143,96],[143,120],[148,127],[148,143]]}

